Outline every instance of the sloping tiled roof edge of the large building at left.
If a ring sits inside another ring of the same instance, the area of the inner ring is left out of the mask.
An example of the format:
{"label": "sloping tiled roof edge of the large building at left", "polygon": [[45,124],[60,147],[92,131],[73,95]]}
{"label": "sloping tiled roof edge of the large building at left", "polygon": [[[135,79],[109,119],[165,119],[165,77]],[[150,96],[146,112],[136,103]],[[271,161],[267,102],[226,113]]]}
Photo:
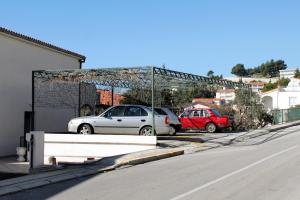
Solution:
{"label": "sloping tiled roof edge of the large building at left", "polygon": [[11,30],[8,30],[8,29],[3,28],[3,27],[0,27],[0,33],[6,34],[6,35],[9,35],[9,36],[18,38],[18,39],[22,39],[22,40],[25,40],[25,41],[28,41],[28,42],[31,42],[31,43],[34,43],[34,44],[37,44],[37,45],[40,45],[40,46],[43,46],[43,47],[46,47],[46,48],[55,50],[55,51],[59,51],[59,52],[62,52],[62,53],[71,55],[71,56],[73,56],[73,57],[77,57],[77,58],[79,58],[79,59],[80,59],[81,61],[83,61],[83,62],[84,62],[85,59],[86,59],[85,56],[80,55],[80,54],[78,54],[78,53],[75,53],[75,52],[72,52],[72,51],[69,51],[69,50],[60,48],[60,47],[58,47],[58,46],[49,44],[49,43],[47,43],[47,42],[43,42],[43,41],[41,41],[41,40],[34,39],[34,38],[32,38],[32,37],[29,37],[29,36],[26,36],[26,35],[23,35],[23,34],[14,32],[14,31],[11,31]]}

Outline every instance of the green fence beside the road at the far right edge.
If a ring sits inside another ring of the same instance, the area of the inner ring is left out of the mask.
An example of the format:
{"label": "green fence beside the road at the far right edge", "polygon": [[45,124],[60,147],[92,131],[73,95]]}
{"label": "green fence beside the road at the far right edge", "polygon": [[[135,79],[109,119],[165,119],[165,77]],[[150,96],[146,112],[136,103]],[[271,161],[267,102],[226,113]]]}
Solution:
{"label": "green fence beside the road at the far right edge", "polygon": [[300,120],[300,108],[273,110],[272,116],[274,124]]}

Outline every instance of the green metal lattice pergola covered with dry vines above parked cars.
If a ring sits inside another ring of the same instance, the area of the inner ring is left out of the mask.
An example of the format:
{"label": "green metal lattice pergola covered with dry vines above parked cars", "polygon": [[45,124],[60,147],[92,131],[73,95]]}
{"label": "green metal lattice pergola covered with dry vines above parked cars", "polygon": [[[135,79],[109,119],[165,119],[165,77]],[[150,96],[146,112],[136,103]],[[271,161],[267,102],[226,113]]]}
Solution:
{"label": "green metal lattice pergola covered with dry vines above parked cars", "polygon": [[[224,79],[214,79],[154,66],[132,68],[99,68],[75,70],[38,70],[32,72],[32,111],[35,105],[35,88],[38,82],[89,83],[112,88],[151,88],[152,109],[154,109],[154,90],[179,87],[191,83],[207,86],[249,89],[250,85]],[[112,94],[113,98],[113,94]],[[80,98],[79,98],[80,101]],[[80,104],[80,103],[79,103]],[[152,127],[154,124],[154,112]]]}

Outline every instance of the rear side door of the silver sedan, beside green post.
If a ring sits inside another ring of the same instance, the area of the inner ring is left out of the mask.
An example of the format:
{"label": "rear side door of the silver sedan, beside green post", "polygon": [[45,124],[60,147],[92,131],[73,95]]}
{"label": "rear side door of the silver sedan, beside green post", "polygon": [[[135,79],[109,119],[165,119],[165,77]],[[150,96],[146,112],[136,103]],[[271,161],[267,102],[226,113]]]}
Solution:
{"label": "rear side door of the silver sedan, beside green post", "polygon": [[128,106],[123,118],[122,131],[126,134],[139,134],[140,128],[147,123],[148,113],[142,107]]}

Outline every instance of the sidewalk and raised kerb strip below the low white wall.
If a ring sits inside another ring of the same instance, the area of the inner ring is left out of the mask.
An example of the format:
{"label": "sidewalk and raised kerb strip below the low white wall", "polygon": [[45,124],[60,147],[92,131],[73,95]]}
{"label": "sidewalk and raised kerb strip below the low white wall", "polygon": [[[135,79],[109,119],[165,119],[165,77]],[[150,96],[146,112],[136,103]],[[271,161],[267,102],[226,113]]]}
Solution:
{"label": "sidewalk and raised kerb strip below the low white wall", "polygon": [[[103,165],[101,166],[101,164],[98,166],[85,165],[82,168],[77,167],[75,169],[74,168],[64,169],[59,171],[52,171],[49,173],[46,172],[50,174],[49,176],[47,176],[46,173],[29,175],[30,177],[27,177],[27,180],[26,180],[26,176],[7,179],[7,180],[0,181],[0,188],[1,188],[0,197],[8,194],[21,192],[24,190],[42,187],[53,183],[59,183],[71,179],[76,179],[76,178],[81,178],[85,176],[91,176],[99,173],[112,171],[126,165],[138,165],[138,164],[143,164],[151,161],[175,157],[183,154],[184,154],[184,150],[170,149],[158,155],[142,156],[140,158],[135,158],[135,159],[120,160],[117,161],[117,164],[106,166],[106,167]],[[34,176],[36,176],[36,178],[34,178]]]}

